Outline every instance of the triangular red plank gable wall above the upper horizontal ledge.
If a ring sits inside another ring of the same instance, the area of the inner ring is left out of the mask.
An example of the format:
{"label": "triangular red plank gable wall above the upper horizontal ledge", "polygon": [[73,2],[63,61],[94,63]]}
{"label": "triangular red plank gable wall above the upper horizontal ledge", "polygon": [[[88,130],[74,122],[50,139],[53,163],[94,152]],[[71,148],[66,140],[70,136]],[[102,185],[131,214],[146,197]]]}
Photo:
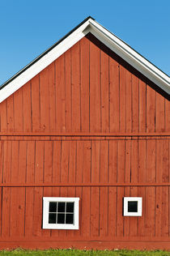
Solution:
{"label": "triangular red plank gable wall above the upper horizontal ledge", "polygon": [[170,130],[168,96],[87,37],[2,102],[1,131]]}

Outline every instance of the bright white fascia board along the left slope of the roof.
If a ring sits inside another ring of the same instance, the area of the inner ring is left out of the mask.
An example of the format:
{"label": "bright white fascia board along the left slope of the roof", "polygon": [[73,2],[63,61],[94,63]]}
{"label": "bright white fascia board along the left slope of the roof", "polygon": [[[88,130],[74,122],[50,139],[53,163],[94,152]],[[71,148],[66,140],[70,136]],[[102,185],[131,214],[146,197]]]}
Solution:
{"label": "bright white fascia board along the left slope of the roof", "polygon": [[80,41],[83,36],[87,34],[86,28],[89,25],[88,19],[85,23],[77,28],[74,32],[67,36],[61,43],[56,45],[49,53],[45,54],[40,60],[30,66],[27,70],[23,71],[18,77],[8,83],[0,91],[0,103],[5,100],[8,96],[11,96],[12,93],[16,92],[20,87],[25,83],[28,83],[34,76],[40,73],[41,70],[44,70],[45,67],[49,66],[53,61],[59,58],[66,50],[70,49],[74,44]]}

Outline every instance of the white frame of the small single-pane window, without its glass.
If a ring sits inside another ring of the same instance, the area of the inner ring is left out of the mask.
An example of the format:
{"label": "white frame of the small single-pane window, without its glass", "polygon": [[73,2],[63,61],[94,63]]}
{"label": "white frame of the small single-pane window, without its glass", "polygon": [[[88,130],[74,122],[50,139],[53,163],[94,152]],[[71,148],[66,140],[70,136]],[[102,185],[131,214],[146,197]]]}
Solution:
{"label": "white frame of the small single-pane window, without its glass", "polygon": [[[130,212],[128,211],[128,202],[138,202],[138,211]],[[142,216],[142,198],[140,197],[125,197],[123,198],[123,215],[124,216]]]}

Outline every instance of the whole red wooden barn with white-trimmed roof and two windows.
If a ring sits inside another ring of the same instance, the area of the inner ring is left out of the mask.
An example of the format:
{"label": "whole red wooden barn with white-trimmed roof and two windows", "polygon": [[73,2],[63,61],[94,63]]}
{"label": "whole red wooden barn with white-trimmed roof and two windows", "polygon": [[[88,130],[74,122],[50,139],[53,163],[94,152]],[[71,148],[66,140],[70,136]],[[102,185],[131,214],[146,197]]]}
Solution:
{"label": "whole red wooden barn with white-trimmed roof and two windows", "polygon": [[1,249],[170,249],[168,75],[88,17],[0,89]]}

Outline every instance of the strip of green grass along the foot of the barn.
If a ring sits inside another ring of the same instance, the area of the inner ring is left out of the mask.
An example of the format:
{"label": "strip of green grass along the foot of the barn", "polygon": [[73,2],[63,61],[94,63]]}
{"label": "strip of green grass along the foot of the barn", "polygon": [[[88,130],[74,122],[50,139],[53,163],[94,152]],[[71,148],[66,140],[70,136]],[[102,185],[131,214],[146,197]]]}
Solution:
{"label": "strip of green grass along the foot of the barn", "polygon": [[0,255],[28,255],[28,256],[37,256],[37,255],[57,255],[57,256],[86,256],[86,255],[106,255],[106,256],[170,256],[170,252],[163,250],[155,251],[140,251],[140,250],[2,250]]}

